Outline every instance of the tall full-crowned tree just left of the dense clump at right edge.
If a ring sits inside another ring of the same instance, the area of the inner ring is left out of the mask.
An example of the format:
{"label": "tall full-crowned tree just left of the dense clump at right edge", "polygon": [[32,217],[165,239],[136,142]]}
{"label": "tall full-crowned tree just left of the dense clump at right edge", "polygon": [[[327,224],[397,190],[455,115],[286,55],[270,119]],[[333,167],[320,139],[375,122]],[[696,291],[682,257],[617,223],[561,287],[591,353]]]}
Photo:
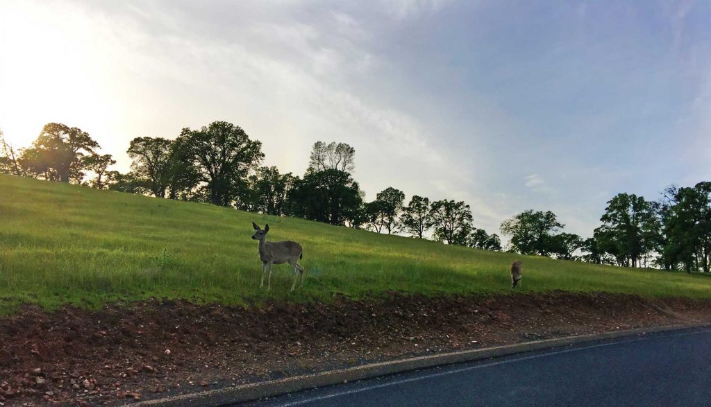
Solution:
{"label": "tall full-crowned tree just left of the dense clump at right edge", "polygon": [[658,239],[660,225],[652,205],[634,194],[621,193],[609,200],[600,221],[594,237],[619,266],[639,266]]}

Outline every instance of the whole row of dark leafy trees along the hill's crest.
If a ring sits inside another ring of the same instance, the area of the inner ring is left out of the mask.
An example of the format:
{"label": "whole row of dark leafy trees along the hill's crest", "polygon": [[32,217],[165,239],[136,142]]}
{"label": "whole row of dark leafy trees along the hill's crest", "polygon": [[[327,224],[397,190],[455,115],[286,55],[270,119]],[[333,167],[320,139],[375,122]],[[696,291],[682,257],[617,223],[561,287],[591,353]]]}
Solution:
{"label": "whole row of dark leafy trees along the hill's crest", "polygon": [[[99,152],[85,131],[46,124],[31,146],[16,150],[0,131],[0,173],[154,197],[209,202],[266,215],[294,216],[387,234],[407,234],[486,250],[503,250],[495,233],[474,227],[465,202],[434,200],[385,188],[366,202],[353,178],[355,149],[314,143],[303,176],[262,166],[262,143],[226,121],[184,128],[176,139],[137,137],[128,173]],[[657,201],[621,193],[607,202],[602,225],[583,239],[562,232],[550,211],[527,210],[501,224],[507,251],[626,267],[709,271],[711,183],[669,187]]]}

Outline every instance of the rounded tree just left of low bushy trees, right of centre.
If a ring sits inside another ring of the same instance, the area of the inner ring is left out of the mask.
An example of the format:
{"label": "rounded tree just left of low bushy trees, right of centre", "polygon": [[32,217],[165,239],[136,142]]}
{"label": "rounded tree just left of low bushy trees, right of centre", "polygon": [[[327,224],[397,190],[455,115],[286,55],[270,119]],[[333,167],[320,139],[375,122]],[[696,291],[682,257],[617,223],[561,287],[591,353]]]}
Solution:
{"label": "rounded tree just left of low bushy trees, right of centre", "polygon": [[434,201],[430,206],[429,217],[437,242],[467,244],[473,220],[469,205],[454,200]]}

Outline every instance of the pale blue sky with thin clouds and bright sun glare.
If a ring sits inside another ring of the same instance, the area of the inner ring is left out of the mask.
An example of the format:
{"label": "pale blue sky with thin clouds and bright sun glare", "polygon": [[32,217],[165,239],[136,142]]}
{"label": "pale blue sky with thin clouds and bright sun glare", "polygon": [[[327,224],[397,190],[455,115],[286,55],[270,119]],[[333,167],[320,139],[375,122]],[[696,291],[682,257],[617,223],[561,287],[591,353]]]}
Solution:
{"label": "pale blue sky with thin clouds and bright sun glare", "polygon": [[599,226],[619,192],[711,180],[711,1],[0,0],[0,130],[58,121],[129,170],[137,136],[215,120],[302,175],[355,148],[366,198]]}

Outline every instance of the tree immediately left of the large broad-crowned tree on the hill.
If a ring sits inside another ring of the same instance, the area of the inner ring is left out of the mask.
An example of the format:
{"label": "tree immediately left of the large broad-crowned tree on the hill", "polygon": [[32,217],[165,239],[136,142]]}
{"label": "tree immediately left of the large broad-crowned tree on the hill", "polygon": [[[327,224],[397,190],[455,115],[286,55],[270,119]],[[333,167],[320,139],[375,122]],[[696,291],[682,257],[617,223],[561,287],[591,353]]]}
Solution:
{"label": "tree immediately left of the large broad-crowned tree on the hill", "polygon": [[136,137],[127,153],[132,158],[131,170],[142,180],[154,197],[166,197],[170,179],[172,142],[162,137]]}

